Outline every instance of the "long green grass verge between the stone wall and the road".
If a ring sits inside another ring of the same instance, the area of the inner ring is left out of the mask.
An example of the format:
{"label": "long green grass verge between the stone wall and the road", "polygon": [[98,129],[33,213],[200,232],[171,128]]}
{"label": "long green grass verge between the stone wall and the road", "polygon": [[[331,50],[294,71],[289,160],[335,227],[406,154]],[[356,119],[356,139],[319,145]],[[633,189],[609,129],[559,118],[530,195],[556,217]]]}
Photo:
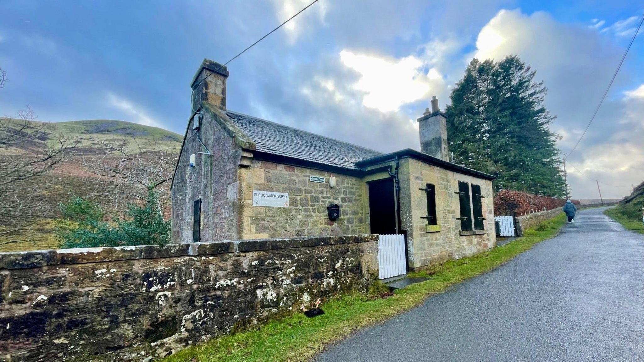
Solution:
{"label": "long green grass verge between the stone wall and the road", "polygon": [[431,280],[399,289],[393,296],[374,299],[363,294],[348,294],[324,303],[325,314],[306,318],[298,313],[236,334],[229,334],[189,347],[163,362],[249,362],[307,361],[328,343],[346,338],[356,330],[392,318],[421,304],[431,294],[444,292],[450,285],[492,269],[527,251],[536,243],[551,238],[565,222],[560,214],[527,230],[526,236],[495,249],[450,262],[430,271]]}

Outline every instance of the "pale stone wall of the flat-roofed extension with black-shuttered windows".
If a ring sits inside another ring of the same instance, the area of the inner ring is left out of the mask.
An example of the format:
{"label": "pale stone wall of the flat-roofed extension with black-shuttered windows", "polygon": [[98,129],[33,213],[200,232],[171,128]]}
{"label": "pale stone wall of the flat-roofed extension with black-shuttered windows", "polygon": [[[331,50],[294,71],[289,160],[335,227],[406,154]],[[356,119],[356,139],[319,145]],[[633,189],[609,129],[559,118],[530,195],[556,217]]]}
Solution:
{"label": "pale stone wall of the flat-roofed extension with black-shuttered windows", "polygon": [[[496,244],[492,182],[461,175],[440,167],[431,166],[404,158],[399,171],[401,182],[401,218],[403,229],[407,230],[409,265],[412,268],[444,262],[446,260],[471,256],[493,248]],[[481,186],[484,220],[484,234],[460,235],[458,182]],[[436,186],[437,224],[440,231],[428,233],[427,198],[425,184]]]}

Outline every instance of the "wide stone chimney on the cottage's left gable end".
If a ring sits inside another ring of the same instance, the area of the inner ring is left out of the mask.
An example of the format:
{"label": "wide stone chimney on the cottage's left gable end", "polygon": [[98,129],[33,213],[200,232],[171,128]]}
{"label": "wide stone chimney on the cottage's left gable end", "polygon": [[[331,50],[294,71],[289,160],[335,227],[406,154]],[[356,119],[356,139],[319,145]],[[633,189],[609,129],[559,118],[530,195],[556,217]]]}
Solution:
{"label": "wide stone chimney on the cottage's left gable end", "polygon": [[[226,110],[226,79],[228,70],[222,64],[204,59],[193,77],[193,110],[198,111],[202,102]],[[204,81],[205,79],[205,81]]]}

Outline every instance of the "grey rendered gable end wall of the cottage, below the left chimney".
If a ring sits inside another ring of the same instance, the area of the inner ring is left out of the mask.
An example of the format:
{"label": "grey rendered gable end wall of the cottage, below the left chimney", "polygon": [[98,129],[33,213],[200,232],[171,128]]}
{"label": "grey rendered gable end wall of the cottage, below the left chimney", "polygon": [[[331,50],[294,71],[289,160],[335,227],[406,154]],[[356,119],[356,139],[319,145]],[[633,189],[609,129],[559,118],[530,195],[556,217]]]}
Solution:
{"label": "grey rendered gable end wall of the cottage, below the left chimney", "polygon": [[[242,149],[218,124],[215,111],[204,108],[199,132],[213,156],[199,155],[204,147],[188,124],[181,157],[176,165],[172,187],[172,230],[174,243],[193,242],[193,203],[202,200],[203,241],[236,239],[238,236],[238,195],[234,186]],[[190,155],[196,155],[195,167],[189,167]]]}

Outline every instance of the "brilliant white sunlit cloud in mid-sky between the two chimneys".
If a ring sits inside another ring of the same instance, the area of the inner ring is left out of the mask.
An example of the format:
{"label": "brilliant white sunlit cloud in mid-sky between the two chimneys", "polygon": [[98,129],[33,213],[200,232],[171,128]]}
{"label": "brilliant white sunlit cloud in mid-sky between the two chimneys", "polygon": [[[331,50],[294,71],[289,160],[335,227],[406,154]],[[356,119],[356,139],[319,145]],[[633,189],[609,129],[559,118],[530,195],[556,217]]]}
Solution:
{"label": "brilliant white sunlit cloud in mid-sky between the two chimneys", "polygon": [[403,104],[444,87],[439,71],[431,68],[425,72],[428,63],[413,55],[391,59],[343,50],[340,60],[360,74],[353,88],[363,92],[363,104],[381,112],[400,110]]}

